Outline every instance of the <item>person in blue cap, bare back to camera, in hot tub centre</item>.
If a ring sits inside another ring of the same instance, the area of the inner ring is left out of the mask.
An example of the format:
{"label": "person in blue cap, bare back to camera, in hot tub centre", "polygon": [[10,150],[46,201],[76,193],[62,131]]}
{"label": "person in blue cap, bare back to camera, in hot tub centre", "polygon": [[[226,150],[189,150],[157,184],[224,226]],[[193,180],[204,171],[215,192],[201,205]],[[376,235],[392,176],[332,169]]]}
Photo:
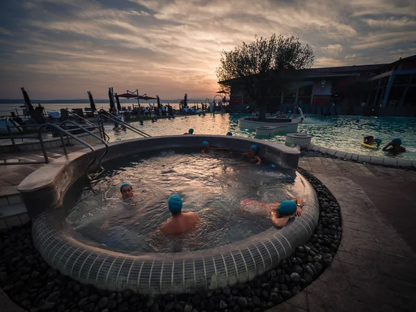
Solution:
{"label": "person in blue cap, bare back to camera, in hot tub centre", "polygon": [[160,230],[164,234],[183,234],[195,227],[196,223],[198,223],[198,214],[195,212],[182,212],[182,198],[177,194],[169,198],[168,209],[171,211],[172,218],[160,227]]}

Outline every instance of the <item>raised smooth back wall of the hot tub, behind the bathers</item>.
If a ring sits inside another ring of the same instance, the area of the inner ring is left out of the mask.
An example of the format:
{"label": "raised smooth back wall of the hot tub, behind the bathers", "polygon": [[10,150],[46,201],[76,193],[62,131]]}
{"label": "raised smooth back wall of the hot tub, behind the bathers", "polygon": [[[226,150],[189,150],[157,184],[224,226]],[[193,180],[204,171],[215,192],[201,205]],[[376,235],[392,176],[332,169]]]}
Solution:
{"label": "raised smooth back wall of the hot tub, behind the bathers", "polygon": [[[214,135],[180,135],[152,137],[146,139],[131,139],[109,145],[105,162],[126,155],[150,152],[152,150],[168,150],[173,148],[194,148],[198,151],[202,141],[207,140],[211,146],[227,146],[232,150],[247,151],[252,144],[260,148],[259,155],[279,164],[283,168],[295,170],[299,162],[300,152],[281,144],[246,139],[241,137],[214,136]],[[104,147],[96,148],[97,157],[104,151]],[[43,211],[49,211],[62,205],[62,198],[67,189],[78,177],[85,174],[85,168],[92,158],[88,149],[71,153],[53,160],[47,166],[39,168],[28,175],[19,184],[18,190],[24,200],[28,215],[35,218]],[[42,205],[39,203],[42,202]]]}

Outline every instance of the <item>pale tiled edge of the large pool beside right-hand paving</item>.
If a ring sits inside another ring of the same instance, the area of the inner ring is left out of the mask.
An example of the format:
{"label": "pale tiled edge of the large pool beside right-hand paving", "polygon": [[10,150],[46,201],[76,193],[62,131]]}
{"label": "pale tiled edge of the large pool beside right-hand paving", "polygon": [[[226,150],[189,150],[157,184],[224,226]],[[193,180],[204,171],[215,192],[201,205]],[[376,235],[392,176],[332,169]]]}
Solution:
{"label": "pale tiled edge of the large pool beside right-hand paving", "polygon": [[331,148],[324,148],[322,146],[308,144],[305,146],[306,150],[313,150],[315,152],[322,153],[323,155],[330,155],[343,160],[353,160],[355,162],[375,164],[381,166],[392,167],[414,167],[416,168],[416,160],[410,159],[397,159],[392,157],[380,157],[371,155],[359,155],[354,153],[342,152],[340,150],[334,150]]}

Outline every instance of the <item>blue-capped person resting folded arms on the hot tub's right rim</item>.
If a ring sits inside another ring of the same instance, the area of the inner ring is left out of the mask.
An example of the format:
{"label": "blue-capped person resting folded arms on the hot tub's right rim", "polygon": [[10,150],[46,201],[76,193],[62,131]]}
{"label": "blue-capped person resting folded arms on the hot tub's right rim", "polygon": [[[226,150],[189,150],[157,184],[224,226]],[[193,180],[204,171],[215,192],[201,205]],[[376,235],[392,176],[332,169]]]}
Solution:
{"label": "blue-capped person resting folded arms on the hot tub's right rim", "polygon": [[241,200],[241,209],[250,212],[265,212],[270,211],[270,217],[275,227],[284,227],[290,218],[294,216],[302,215],[302,207],[304,201],[302,198],[296,198],[295,200],[284,200],[283,202],[275,202],[272,204],[266,204],[259,200],[252,200],[245,198]]}

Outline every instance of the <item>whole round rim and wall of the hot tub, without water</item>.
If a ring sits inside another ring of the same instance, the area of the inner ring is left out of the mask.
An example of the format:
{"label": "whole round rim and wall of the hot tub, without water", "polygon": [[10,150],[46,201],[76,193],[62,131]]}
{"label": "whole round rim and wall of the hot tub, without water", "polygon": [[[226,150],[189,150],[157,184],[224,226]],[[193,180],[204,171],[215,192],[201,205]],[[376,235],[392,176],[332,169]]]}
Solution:
{"label": "whole round rim and wall of the hot tub, without water", "polygon": [[[318,223],[318,199],[302,175],[295,172],[299,151],[265,141],[226,136],[171,136],[110,144],[107,161],[125,155],[159,153],[180,148],[200,151],[200,143],[241,152],[254,143],[266,161],[293,176],[306,205],[302,216],[281,229],[270,227],[239,241],[185,252],[121,250],[94,242],[66,222],[62,199],[85,172],[90,152],[73,153],[40,168],[19,186],[33,218],[33,241],[50,266],[85,284],[110,290],[132,289],[142,294],[193,293],[244,283],[275,268],[309,240]],[[101,153],[100,151],[98,151]]]}

